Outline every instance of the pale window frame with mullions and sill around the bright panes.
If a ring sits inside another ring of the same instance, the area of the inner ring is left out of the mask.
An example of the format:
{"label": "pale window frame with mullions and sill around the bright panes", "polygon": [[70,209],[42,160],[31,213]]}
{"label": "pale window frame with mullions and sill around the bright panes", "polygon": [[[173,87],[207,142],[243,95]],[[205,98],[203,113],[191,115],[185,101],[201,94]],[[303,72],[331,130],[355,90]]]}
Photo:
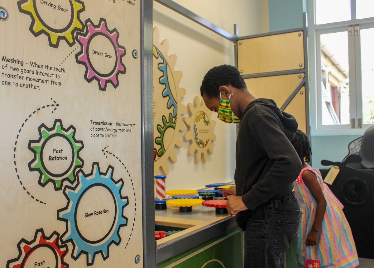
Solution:
{"label": "pale window frame with mullions and sill around the bright panes", "polygon": [[[356,0],[350,0],[351,19],[349,21],[315,24],[315,0],[308,0],[308,44],[309,44],[309,83],[310,88],[310,123],[312,135],[360,135],[374,124],[362,124],[362,128],[351,128],[350,124],[322,125],[322,93],[321,93],[321,34],[348,31],[349,26],[360,25],[361,29],[374,28],[374,17],[356,19]],[[371,27],[373,26],[373,27]],[[349,80],[350,80],[350,119],[362,119],[362,85],[361,85],[361,46],[360,35],[349,38]],[[357,41],[358,40],[358,41]],[[356,45],[355,45],[356,42]],[[356,68],[359,66],[359,68]],[[354,81],[355,84],[352,84]],[[354,103],[354,104],[353,104]],[[353,104],[353,105],[352,105]]]}

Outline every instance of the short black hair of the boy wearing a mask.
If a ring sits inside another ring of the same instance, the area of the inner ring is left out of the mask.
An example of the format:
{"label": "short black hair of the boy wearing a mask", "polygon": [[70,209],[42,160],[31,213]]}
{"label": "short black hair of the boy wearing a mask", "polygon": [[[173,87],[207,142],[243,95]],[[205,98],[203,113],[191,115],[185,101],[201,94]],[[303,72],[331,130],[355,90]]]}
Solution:
{"label": "short black hair of the boy wearing a mask", "polygon": [[221,85],[232,85],[236,88],[247,88],[239,71],[231,65],[220,65],[210,69],[200,87],[201,96],[205,94],[208,97],[220,96]]}

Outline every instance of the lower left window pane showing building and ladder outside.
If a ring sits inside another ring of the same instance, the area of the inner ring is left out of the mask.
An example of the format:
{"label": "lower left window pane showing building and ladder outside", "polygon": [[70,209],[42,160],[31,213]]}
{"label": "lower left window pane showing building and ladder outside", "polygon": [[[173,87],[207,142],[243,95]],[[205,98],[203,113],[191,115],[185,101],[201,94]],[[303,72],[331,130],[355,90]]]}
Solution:
{"label": "lower left window pane showing building and ladder outside", "polygon": [[321,34],[322,124],[349,124],[348,32]]}

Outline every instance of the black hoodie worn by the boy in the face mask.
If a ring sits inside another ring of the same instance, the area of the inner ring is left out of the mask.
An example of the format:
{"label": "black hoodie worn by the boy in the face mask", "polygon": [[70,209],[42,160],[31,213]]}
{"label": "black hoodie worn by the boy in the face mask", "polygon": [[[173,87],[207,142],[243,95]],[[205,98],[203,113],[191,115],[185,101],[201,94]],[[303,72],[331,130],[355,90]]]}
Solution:
{"label": "black hoodie worn by the boy in the face mask", "polygon": [[302,168],[290,142],[296,130],[296,119],[282,112],[270,99],[252,101],[240,116],[236,195],[242,196],[249,210],[292,191]]}

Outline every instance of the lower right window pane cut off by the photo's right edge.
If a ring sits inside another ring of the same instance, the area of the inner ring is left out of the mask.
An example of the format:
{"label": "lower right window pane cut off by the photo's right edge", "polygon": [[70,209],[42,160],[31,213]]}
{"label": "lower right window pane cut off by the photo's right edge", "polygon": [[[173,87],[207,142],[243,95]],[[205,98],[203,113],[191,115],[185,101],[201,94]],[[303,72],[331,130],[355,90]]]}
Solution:
{"label": "lower right window pane cut off by the photo's right edge", "polygon": [[360,31],[363,124],[374,124],[374,29]]}

